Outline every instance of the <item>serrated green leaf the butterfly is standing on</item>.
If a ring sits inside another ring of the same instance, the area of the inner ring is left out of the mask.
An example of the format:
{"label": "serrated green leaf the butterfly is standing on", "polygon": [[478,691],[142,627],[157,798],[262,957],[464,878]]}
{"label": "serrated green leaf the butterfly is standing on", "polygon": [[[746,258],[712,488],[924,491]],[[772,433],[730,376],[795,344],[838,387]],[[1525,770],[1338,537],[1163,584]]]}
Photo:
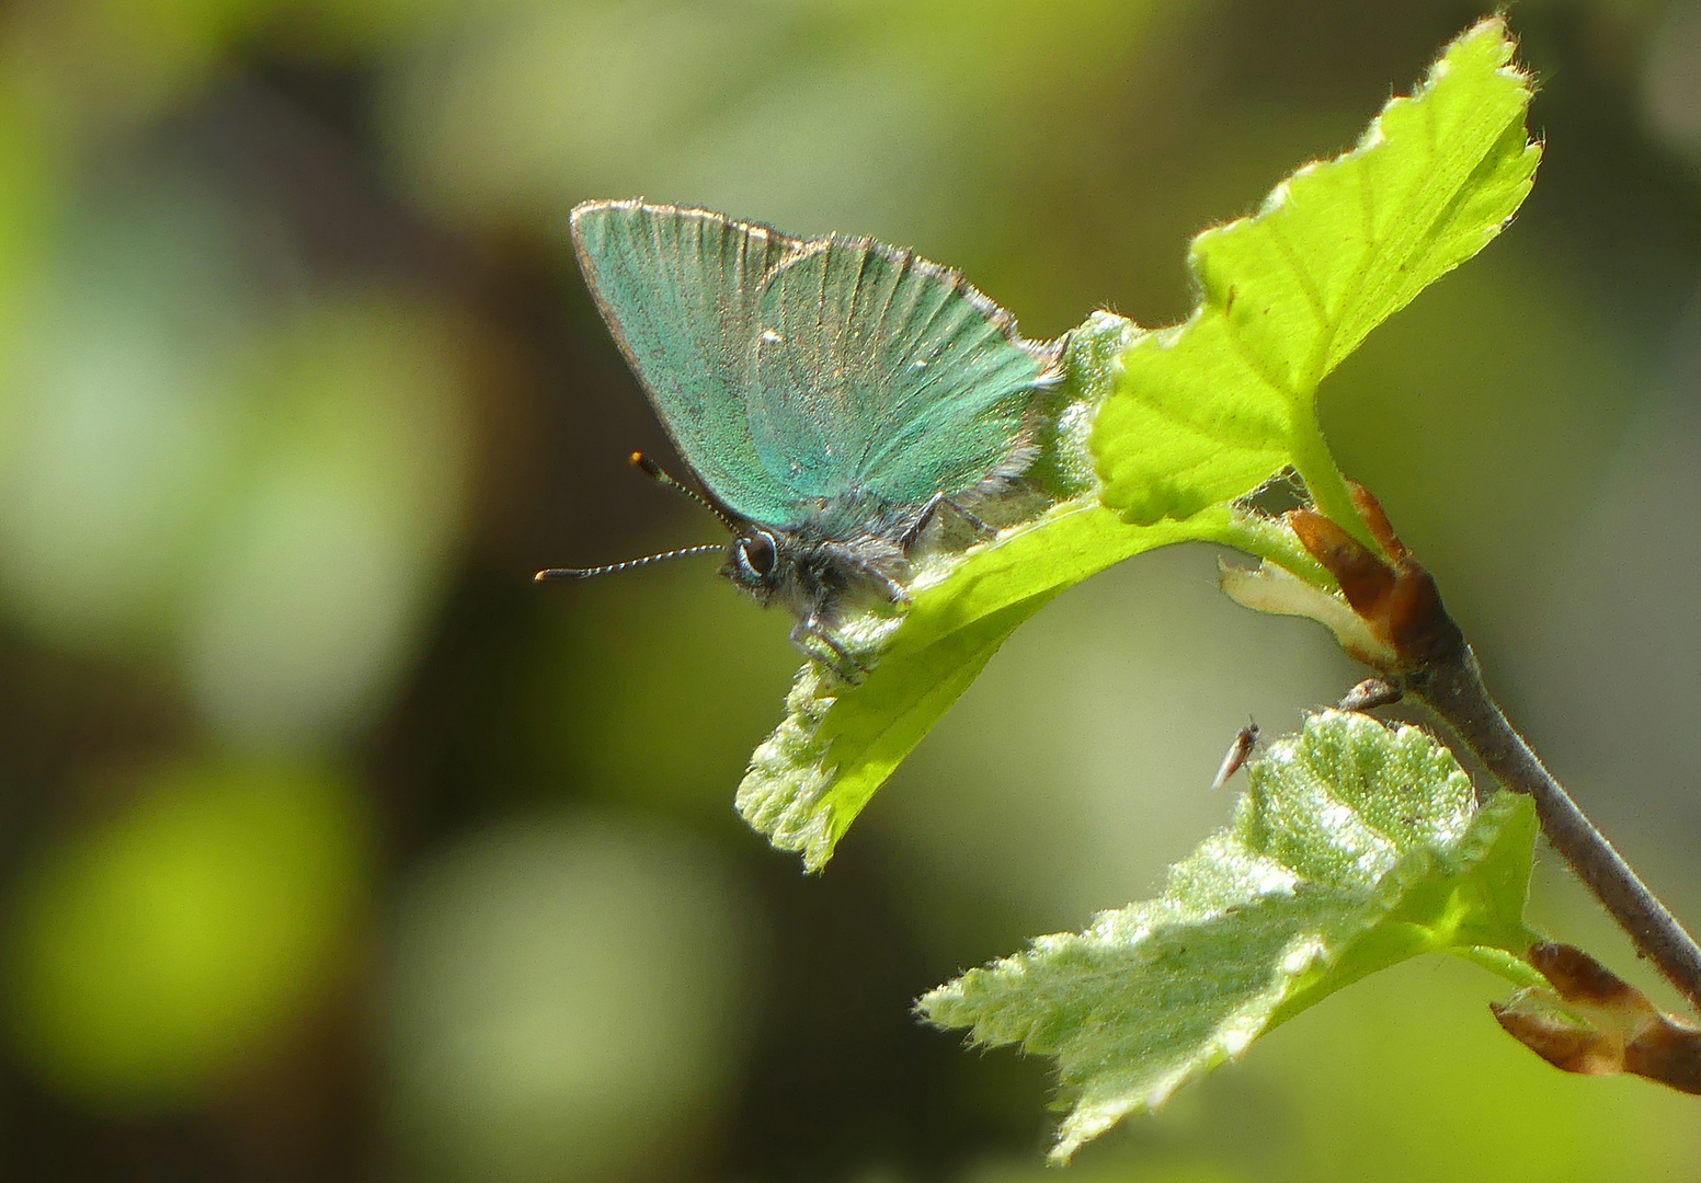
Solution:
{"label": "serrated green leaf the butterfly is standing on", "polygon": [[1065,382],[1051,418],[1041,478],[1067,500],[966,556],[924,569],[902,617],[869,615],[842,627],[873,673],[845,685],[806,663],[786,717],[755,750],[738,785],[738,812],[779,850],[820,870],[874,792],[968,688],[1015,627],[1055,595],[1126,558],[1172,542],[1209,541],[1267,556],[1328,585],[1279,524],[1226,505],[1187,520],[1129,525],[1090,493],[1085,452],[1092,411],[1140,330],[1095,313],[1070,337]]}

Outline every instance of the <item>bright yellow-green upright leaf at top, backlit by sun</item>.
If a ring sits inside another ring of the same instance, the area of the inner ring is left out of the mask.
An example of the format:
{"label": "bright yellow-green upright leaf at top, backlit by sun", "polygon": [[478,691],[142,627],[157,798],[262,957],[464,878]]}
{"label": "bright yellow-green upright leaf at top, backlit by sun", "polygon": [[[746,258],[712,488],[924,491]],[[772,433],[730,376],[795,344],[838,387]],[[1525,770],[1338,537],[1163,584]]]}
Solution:
{"label": "bright yellow-green upright leaf at top, backlit by sun", "polygon": [[1529,192],[1541,150],[1524,133],[1531,87],[1512,53],[1499,17],[1480,22],[1357,148],[1192,241],[1199,306],[1131,343],[1092,433],[1106,505],[1129,522],[1189,517],[1293,464],[1318,508],[1363,535],[1317,427],[1317,388],[1487,246]]}

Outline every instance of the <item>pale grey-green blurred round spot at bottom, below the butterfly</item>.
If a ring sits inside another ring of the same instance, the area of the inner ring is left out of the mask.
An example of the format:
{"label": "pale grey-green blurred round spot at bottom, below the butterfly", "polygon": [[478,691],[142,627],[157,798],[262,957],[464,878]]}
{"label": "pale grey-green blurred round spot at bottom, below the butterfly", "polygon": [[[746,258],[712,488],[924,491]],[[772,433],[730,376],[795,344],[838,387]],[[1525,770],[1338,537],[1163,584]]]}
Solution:
{"label": "pale grey-green blurred round spot at bottom, below the butterfly", "polygon": [[407,1178],[602,1180],[725,1117],[754,901],[657,828],[534,821],[424,867],[390,1020]]}

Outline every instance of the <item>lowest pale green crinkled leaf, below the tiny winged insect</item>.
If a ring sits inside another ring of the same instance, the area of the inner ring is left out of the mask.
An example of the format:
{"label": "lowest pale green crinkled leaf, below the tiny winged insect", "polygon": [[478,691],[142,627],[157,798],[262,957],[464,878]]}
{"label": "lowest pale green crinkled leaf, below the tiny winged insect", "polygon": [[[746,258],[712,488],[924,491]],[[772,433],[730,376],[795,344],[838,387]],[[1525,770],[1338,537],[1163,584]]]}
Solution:
{"label": "lowest pale green crinkled leaf, below the tiny winged insect", "polygon": [[1342,986],[1427,952],[1521,984],[1536,818],[1476,807],[1417,727],[1325,710],[1250,765],[1235,821],[1170,869],[1160,899],[973,969],[920,999],[976,1044],[1055,1056],[1070,1113],[1053,1158]]}

